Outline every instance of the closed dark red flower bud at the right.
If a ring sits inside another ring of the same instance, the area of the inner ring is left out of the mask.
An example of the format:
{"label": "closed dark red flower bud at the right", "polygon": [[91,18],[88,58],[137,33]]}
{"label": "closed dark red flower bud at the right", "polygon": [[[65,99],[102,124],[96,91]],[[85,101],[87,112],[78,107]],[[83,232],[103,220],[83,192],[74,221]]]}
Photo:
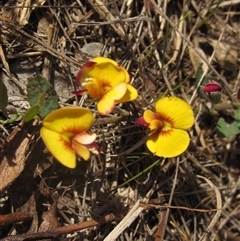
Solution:
{"label": "closed dark red flower bud at the right", "polygon": [[203,91],[208,95],[213,104],[218,104],[221,101],[222,86],[216,81],[210,81],[203,86]]}

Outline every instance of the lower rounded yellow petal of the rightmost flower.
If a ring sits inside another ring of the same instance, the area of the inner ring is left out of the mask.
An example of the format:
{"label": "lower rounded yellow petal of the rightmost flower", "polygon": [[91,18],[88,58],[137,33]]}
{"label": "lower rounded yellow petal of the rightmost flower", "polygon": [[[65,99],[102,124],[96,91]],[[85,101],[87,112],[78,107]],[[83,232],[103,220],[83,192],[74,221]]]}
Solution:
{"label": "lower rounded yellow petal of the rightmost flower", "polygon": [[186,131],[171,129],[149,136],[147,147],[156,156],[171,158],[182,154],[189,142],[190,138]]}

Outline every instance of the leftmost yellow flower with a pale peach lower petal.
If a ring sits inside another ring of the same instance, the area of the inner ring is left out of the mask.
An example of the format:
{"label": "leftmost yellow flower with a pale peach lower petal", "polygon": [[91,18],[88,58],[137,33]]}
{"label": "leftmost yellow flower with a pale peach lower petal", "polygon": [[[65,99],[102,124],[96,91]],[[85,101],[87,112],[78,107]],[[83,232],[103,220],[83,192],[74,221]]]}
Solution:
{"label": "leftmost yellow flower with a pale peach lower petal", "polygon": [[94,121],[85,108],[61,108],[44,118],[40,133],[52,155],[64,166],[75,168],[77,155],[88,160],[90,152],[98,154],[96,134],[87,132]]}

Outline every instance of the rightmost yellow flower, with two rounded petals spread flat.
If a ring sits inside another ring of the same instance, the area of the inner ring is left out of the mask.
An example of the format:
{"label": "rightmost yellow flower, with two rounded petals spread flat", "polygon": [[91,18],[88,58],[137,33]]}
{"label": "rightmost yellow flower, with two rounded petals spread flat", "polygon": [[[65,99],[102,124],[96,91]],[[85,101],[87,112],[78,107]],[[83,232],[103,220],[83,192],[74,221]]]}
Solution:
{"label": "rightmost yellow flower, with two rounded petals spread flat", "polygon": [[148,149],[157,156],[175,157],[188,147],[187,130],[194,123],[191,106],[178,97],[163,97],[156,102],[156,113],[146,110],[137,123],[150,129]]}

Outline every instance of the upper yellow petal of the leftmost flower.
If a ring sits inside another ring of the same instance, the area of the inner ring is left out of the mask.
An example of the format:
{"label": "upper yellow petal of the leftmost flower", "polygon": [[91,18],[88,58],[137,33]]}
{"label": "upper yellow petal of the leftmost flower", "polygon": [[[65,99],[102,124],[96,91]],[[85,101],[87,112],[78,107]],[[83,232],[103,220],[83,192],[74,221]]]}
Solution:
{"label": "upper yellow petal of the leftmost flower", "polygon": [[54,110],[43,120],[46,129],[64,133],[68,137],[87,131],[93,125],[95,118],[91,111],[81,107],[64,107]]}

